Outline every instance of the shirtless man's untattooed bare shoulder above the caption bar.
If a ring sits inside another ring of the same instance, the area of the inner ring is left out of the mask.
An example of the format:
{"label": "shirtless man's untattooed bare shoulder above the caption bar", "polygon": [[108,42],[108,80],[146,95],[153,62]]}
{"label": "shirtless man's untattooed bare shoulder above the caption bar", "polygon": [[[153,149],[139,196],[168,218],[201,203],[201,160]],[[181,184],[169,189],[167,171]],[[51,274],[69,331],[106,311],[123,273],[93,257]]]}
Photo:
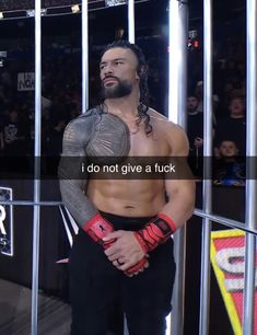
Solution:
{"label": "shirtless man's untattooed bare shoulder above the caption bar", "polygon": [[153,128],[157,132],[162,132],[165,137],[168,146],[171,147],[172,155],[187,155],[188,154],[188,139],[185,130],[179,126],[168,120],[167,117],[163,116],[159,112],[150,108],[149,115]]}

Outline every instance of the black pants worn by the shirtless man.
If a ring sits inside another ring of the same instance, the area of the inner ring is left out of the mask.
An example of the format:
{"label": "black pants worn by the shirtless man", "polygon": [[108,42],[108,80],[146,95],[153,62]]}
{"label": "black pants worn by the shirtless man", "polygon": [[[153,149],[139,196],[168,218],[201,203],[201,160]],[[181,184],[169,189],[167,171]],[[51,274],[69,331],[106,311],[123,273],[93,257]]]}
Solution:
{"label": "black pants worn by the shirtless man", "polygon": [[[102,215],[115,230],[135,231],[150,220]],[[175,277],[172,239],[151,252],[149,264],[143,273],[127,277],[80,230],[70,257],[71,335],[106,335],[117,304],[130,335],[164,335]]]}

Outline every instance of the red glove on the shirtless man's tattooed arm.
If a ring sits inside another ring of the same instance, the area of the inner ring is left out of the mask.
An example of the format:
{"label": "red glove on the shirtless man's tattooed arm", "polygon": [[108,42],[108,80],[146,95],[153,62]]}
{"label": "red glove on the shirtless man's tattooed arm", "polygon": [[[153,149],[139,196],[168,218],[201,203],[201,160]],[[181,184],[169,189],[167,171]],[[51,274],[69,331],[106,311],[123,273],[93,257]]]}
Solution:
{"label": "red glove on the shirtless man's tattooed arm", "polygon": [[[110,222],[104,219],[100,213],[95,215],[90,221],[87,221],[83,226],[83,230],[91,236],[91,239],[103,245],[104,249],[108,249],[115,240],[110,240],[107,242],[103,241],[108,233],[114,231],[114,227]],[[125,270],[127,276],[131,276],[135,273],[139,272],[145,264],[147,258],[143,257],[139,263],[135,264],[133,266],[129,267]]]}

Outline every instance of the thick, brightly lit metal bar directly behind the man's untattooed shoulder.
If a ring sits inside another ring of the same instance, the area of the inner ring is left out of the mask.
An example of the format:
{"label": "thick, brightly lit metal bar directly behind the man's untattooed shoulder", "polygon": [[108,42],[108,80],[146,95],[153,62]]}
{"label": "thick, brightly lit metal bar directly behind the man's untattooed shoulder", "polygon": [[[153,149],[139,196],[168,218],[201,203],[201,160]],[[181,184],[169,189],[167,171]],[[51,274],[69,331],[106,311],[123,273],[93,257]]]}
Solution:
{"label": "thick, brightly lit metal bar directly behind the man's untattooed shoulder", "polygon": [[[186,1],[170,0],[168,12],[168,119],[186,127],[187,96],[187,34],[188,5]],[[185,250],[186,230],[174,234],[174,255],[177,266],[173,290],[173,312],[167,317],[166,334],[182,335],[184,332]],[[171,332],[172,328],[172,332]]]}

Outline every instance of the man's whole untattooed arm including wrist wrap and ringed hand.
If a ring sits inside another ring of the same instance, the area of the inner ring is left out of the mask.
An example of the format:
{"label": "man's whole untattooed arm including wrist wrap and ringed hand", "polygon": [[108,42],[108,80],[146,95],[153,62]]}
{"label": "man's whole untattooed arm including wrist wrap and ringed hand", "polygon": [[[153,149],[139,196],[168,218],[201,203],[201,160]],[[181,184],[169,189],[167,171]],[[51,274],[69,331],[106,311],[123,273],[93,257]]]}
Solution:
{"label": "man's whole untattooed arm including wrist wrap and ringed hand", "polygon": [[[179,162],[176,176],[165,180],[165,192],[167,203],[157,216],[145,227],[137,232],[117,231],[110,233],[106,239],[115,238],[119,243],[106,251],[110,261],[119,257],[127,259],[121,270],[126,270],[140,261],[149,252],[164,243],[177,229],[182,228],[191,217],[195,206],[195,182],[187,165],[188,140],[182,128],[173,126],[171,147],[172,157]],[[117,242],[116,242],[117,243]]]}

